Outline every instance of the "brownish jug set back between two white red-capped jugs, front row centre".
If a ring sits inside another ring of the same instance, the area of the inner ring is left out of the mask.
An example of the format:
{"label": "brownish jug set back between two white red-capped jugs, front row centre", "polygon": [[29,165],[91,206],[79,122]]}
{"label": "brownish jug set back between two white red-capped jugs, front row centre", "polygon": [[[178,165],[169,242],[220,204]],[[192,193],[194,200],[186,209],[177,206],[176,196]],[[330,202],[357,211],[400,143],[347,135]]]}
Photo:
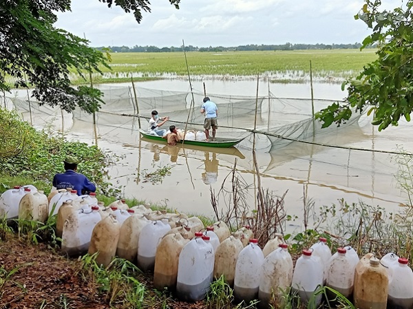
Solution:
{"label": "brownish jug set back between two white red-capped jugs, front row centre", "polygon": [[215,264],[213,266],[213,276],[218,279],[224,275],[224,279],[229,286],[234,286],[235,265],[237,258],[244,246],[240,239],[230,236],[215,251]]}

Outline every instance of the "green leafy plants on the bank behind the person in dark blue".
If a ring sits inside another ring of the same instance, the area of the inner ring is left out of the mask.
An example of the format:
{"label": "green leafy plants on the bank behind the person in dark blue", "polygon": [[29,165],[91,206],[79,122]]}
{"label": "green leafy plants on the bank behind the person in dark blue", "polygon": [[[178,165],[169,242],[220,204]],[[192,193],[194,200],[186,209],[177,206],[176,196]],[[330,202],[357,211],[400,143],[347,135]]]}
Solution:
{"label": "green leafy plants on the bank behind the person in dark blue", "polygon": [[[106,170],[114,156],[109,158],[96,146],[68,141],[45,131],[36,131],[28,122],[21,121],[13,111],[0,108],[0,120],[4,120],[0,121],[0,132],[4,131],[8,136],[0,140],[0,149],[9,149],[9,152],[0,150],[2,176],[19,175],[20,178],[32,178],[34,181],[51,184],[54,174],[64,171],[64,158],[72,155],[81,160],[78,172],[87,175],[102,193],[117,193],[107,182]],[[24,132],[24,136],[21,136],[21,132]],[[9,153],[13,155],[10,156]],[[0,188],[0,191],[3,190]]]}

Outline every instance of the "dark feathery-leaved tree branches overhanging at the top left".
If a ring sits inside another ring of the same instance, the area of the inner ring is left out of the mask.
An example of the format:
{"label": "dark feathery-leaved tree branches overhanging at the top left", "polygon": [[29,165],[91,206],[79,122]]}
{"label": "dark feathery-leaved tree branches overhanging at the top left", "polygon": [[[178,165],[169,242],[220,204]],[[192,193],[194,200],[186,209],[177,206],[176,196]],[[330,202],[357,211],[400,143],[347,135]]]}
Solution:
{"label": "dark feathery-leaved tree branches overhanging at the top left", "polygon": [[[133,12],[140,23],[141,10],[150,12],[147,0],[99,0]],[[178,8],[180,0],[169,0]],[[0,91],[14,87],[34,87],[33,96],[41,104],[72,111],[76,106],[93,112],[100,107],[102,93],[92,87],[70,85],[70,68],[100,72],[107,64],[102,52],[87,46],[89,41],[54,28],[55,12],[70,10],[71,0],[3,0],[0,6]],[[101,72],[100,72],[101,73]],[[84,77],[84,76],[83,76]]]}

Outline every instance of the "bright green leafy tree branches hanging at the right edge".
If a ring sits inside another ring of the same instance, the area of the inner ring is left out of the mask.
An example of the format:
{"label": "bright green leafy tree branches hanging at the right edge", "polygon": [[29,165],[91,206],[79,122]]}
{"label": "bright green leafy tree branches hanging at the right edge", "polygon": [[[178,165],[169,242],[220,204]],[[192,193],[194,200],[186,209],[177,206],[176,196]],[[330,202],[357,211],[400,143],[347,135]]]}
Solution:
{"label": "bright green leafy tree branches hanging at the right edge", "polygon": [[392,12],[381,11],[381,0],[366,0],[363,8],[354,16],[361,19],[372,34],[364,39],[361,50],[377,44],[377,60],[363,67],[355,79],[343,83],[347,86],[346,104],[335,103],[321,109],[316,118],[323,127],[335,122],[339,125],[357,112],[368,109],[374,112],[372,125],[379,131],[389,125],[398,125],[403,116],[410,121],[413,109],[413,0],[405,2],[405,8],[395,8]]}

